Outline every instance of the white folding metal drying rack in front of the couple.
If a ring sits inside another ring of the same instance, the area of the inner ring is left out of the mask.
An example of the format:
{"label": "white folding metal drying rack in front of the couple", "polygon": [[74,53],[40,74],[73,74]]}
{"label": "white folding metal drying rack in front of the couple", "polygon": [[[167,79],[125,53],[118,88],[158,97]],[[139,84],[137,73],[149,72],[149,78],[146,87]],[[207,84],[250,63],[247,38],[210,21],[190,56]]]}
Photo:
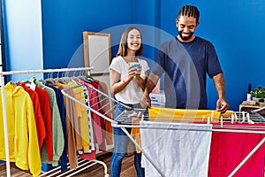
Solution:
{"label": "white folding metal drying rack in front of the couple", "polygon": [[[87,111],[89,112],[94,112],[95,114],[97,114],[98,116],[100,116],[102,119],[106,119],[107,121],[110,121],[111,126],[112,127],[120,127],[125,134],[131,139],[131,141],[137,146],[137,148],[139,148],[139,150],[141,150],[142,154],[148,159],[148,161],[155,167],[155,169],[157,170],[158,173],[160,173],[162,176],[164,176],[163,172],[158,168],[157,165],[155,165],[155,163],[152,161],[151,158],[148,157],[147,153],[145,152],[145,150],[143,150],[139,143],[136,142],[133,138],[132,135],[129,134],[129,132],[126,130],[126,127],[136,127],[136,128],[150,128],[150,127],[146,127],[143,126],[142,124],[140,124],[141,120],[148,120],[150,122],[156,122],[156,127],[155,128],[162,128],[162,129],[174,129],[172,127],[170,127],[170,121],[172,122],[172,119],[154,119],[152,117],[148,116],[148,112],[146,110],[143,109],[133,109],[130,110],[130,107],[127,107],[128,110],[125,110],[124,112],[122,112],[117,119],[110,119],[106,114],[108,112],[115,112],[116,106],[117,104],[121,104],[118,103],[117,100],[111,98],[110,96],[105,95],[104,93],[102,93],[100,90],[95,89],[94,87],[88,85],[88,84],[84,84],[86,85],[85,88],[87,88],[87,91],[89,90],[89,93],[92,92],[96,92],[98,93],[98,96],[100,96],[100,99],[98,103],[96,104],[101,104],[102,107],[99,108],[99,110],[95,110],[93,108],[93,105],[87,105],[87,104],[83,104],[79,101],[79,99],[81,98],[77,98],[76,96],[73,95],[69,95],[66,90],[69,89],[74,89],[73,88],[68,88],[68,89],[63,89],[62,93],[64,94],[64,96],[69,97],[70,99],[72,99],[73,101],[77,102],[78,104],[81,104],[82,106],[85,106],[85,108],[87,109]],[[84,85],[79,85],[77,87],[83,87]],[[104,100],[109,100],[109,104],[103,103]],[[110,104],[112,103],[112,104]],[[101,112],[101,110],[103,108],[108,107],[108,110],[105,110],[104,113]],[[185,117],[183,118],[182,121],[180,121],[181,123],[199,123],[199,124],[204,124],[206,126],[211,125],[212,129],[211,130],[204,130],[204,129],[200,129],[200,128],[194,128],[194,127],[190,127],[187,125],[187,127],[184,127],[183,129],[185,130],[190,130],[190,131],[216,131],[216,132],[231,132],[231,133],[249,133],[249,134],[265,134],[265,119],[257,112],[234,112],[234,114],[232,114],[232,122],[231,122],[231,118],[227,118],[227,117],[222,117],[222,122],[223,124],[220,125],[218,122],[216,124],[216,122],[213,122],[211,124],[211,122],[208,122],[209,119],[202,119],[201,121],[194,121],[193,118],[191,117]],[[212,119],[212,118],[211,118]],[[219,121],[220,118],[218,118]],[[206,123],[207,122],[207,123]],[[225,123],[227,122],[231,122],[230,125],[226,125]],[[248,126],[244,126],[244,124],[256,124],[256,125],[252,125],[251,127]],[[239,125],[240,124],[240,125]],[[262,125],[264,124],[264,126]],[[237,126],[238,125],[238,126]],[[243,126],[242,126],[243,125]],[[152,127],[151,127],[152,128]],[[179,128],[178,128],[179,130]],[[252,150],[247,157],[237,166],[236,169],[234,169],[234,171],[230,174],[230,176],[232,176],[234,173],[236,173],[239,168],[244,165],[244,163],[248,160],[248,158],[250,158],[254,152],[256,150],[258,150],[262,144],[265,143],[265,138],[263,138],[261,140],[261,142],[259,142],[258,145],[256,145],[256,147],[254,148],[254,150]]]}

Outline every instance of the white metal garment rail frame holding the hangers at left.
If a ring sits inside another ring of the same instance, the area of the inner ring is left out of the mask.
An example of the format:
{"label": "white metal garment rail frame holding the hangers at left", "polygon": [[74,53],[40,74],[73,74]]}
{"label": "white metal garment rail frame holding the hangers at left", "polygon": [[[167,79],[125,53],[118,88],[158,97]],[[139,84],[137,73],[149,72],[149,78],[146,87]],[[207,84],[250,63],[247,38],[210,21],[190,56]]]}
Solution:
{"label": "white metal garment rail frame holding the hangers at left", "polygon": [[[4,147],[5,147],[5,164],[6,164],[6,176],[11,176],[10,168],[10,156],[9,156],[9,143],[8,143],[8,130],[7,130],[7,112],[6,112],[6,103],[5,103],[5,90],[4,90],[4,76],[14,75],[14,74],[26,74],[26,73],[63,73],[63,72],[78,72],[86,71],[87,75],[90,75],[90,70],[93,70],[94,67],[76,67],[76,68],[60,68],[60,69],[44,69],[44,70],[25,70],[25,71],[10,71],[10,72],[0,72],[0,86],[2,88],[2,108],[3,108],[3,118],[4,118]],[[95,163],[100,163],[105,167],[105,176],[109,176],[107,173],[106,165],[99,161],[94,160]],[[90,165],[89,165],[90,166]],[[83,169],[86,169],[85,166]],[[81,170],[79,170],[81,171]]]}

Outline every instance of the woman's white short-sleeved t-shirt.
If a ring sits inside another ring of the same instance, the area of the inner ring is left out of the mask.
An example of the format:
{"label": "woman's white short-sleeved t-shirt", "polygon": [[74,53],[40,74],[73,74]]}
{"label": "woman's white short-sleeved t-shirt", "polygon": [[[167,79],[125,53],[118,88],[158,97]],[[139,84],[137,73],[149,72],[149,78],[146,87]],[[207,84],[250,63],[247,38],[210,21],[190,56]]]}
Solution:
{"label": "woman's white short-sleeved t-shirt", "polygon": [[[148,71],[149,66],[148,62],[143,59],[139,59],[138,61],[141,65],[140,77],[145,80],[146,75],[145,72]],[[110,69],[116,71],[120,74],[120,80],[126,77],[128,73],[129,65],[125,62],[124,58],[118,56],[117,58],[113,58],[110,64]],[[139,104],[140,98],[143,95],[143,90],[140,88],[140,85],[134,78],[130,83],[125,87],[125,89],[121,90],[115,95],[117,101],[123,102],[125,104]]]}

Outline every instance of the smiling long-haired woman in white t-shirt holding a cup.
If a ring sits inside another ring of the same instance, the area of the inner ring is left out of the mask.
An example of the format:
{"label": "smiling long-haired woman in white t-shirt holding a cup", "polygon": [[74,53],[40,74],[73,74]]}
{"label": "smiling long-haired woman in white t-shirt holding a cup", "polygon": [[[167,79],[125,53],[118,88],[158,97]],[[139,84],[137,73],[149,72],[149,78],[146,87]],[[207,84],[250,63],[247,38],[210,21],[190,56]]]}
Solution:
{"label": "smiling long-haired woman in white t-shirt holding a cup", "polygon": [[[140,30],[135,27],[125,29],[121,37],[116,58],[110,64],[110,90],[117,101],[131,108],[141,108],[140,98],[143,95],[146,78],[148,76],[147,61],[137,58],[142,55],[143,47]],[[140,67],[130,65],[136,62]],[[117,104],[114,119],[126,108]],[[127,128],[130,133],[131,128]],[[113,127],[114,150],[110,162],[112,177],[120,176],[122,160],[125,157],[129,138],[119,127]],[[138,177],[144,176],[144,169],[140,166],[141,154],[134,152],[134,166]]]}

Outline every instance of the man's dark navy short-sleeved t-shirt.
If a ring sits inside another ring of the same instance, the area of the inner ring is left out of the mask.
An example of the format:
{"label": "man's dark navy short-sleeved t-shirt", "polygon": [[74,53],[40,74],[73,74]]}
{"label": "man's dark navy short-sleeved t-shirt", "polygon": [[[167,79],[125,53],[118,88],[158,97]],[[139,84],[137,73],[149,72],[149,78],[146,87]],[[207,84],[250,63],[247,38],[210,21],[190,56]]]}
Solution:
{"label": "man's dark navy short-sleeved t-shirt", "polygon": [[223,71],[211,42],[200,37],[180,42],[176,37],[157,50],[151,73],[165,73],[166,107],[207,109],[207,74],[212,79]]}

